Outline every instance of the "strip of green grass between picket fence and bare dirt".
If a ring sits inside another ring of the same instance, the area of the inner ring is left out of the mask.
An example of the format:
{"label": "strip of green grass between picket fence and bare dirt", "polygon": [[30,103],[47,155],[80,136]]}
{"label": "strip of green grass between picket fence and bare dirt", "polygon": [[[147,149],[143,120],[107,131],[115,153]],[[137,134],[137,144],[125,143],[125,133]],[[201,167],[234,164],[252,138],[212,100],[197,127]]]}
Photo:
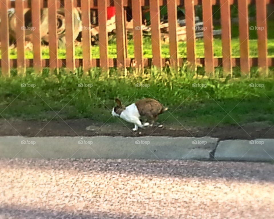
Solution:
{"label": "strip of green grass between picket fence and bare dirt", "polygon": [[[31,70],[30,70],[31,71]],[[118,77],[111,69],[104,77],[98,69],[89,76],[81,71],[75,74],[43,75],[28,73],[0,80],[0,112],[4,118],[50,120],[59,112],[63,119],[90,118],[94,122],[114,123],[110,109],[115,97],[125,104],[151,97],[169,107],[160,121],[184,125],[215,126],[268,121],[274,124],[274,79],[193,79],[181,70],[174,74],[168,70],[159,73],[147,69],[144,75],[129,71],[127,77]],[[35,87],[21,87],[21,84]],[[79,83],[92,87],[78,87]],[[136,83],[149,87],[136,87]],[[193,87],[193,83],[206,87]],[[250,83],[264,87],[250,87]],[[229,113],[229,115],[227,115]],[[55,117],[55,119],[58,119]],[[109,119],[109,120],[108,120]],[[178,121],[177,121],[178,120]]]}

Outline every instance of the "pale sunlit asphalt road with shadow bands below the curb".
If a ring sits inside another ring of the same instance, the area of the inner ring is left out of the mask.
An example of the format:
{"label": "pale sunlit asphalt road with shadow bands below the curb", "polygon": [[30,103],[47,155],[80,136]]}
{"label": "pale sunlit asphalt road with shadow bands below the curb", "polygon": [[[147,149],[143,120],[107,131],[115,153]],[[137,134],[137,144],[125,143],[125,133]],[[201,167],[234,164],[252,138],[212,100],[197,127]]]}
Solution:
{"label": "pale sunlit asphalt road with shadow bands below the curb", "polygon": [[274,165],[0,159],[0,218],[274,218]]}

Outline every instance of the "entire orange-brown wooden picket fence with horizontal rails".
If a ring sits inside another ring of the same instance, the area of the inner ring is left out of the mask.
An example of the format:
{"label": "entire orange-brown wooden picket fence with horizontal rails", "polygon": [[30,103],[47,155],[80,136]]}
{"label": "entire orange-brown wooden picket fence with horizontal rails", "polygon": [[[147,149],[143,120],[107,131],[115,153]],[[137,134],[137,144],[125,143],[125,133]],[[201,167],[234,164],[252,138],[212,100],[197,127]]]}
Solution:
{"label": "entire orange-brown wooden picket fence with horizontal rails", "polygon": [[[203,9],[204,22],[204,47],[205,57],[196,58],[195,54],[195,5],[201,5]],[[212,5],[220,4],[223,57],[214,58],[213,54],[213,21]],[[240,58],[231,56],[231,20],[230,5],[238,5],[239,10],[239,42]],[[249,57],[249,20],[248,5],[256,4],[257,26],[263,27],[258,30],[258,57]],[[140,28],[134,28],[134,66],[143,68],[154,65],[163,67],[166,61],[170,66],[179,67],[187,60],[190,66],[203,65],[208,74],[214,72],[215,67],[222,66],[225,74],[231,74],[232,67],[240,67],[243,74],[249,74],[251,66],[258,66],[265,69],[274,66],[274,58],[267,57],[267,4],[274,4],[274,0],[1,0],[1,70],[3,76],[10,75],[11,67],[18,69],[18,73],[25,72],[26,67],[34,67],[35,71],[41,72],[42,68],[49,67],[56,69],[66,67],[73,70],[83,66],[87,71],[92,67],[129,67],[132,66],[133,59],[127,57],[127,38],[125,32],[125,8],[132,8],[134,27],[142,26],[142,6],[150,5],[151,28],[152,28],[152,59],[145,59],[143,55],[143,33]],[[110,5],[116,7],[116,33],[117,33],[117,58],[108,58],[108,33],[107,33],[107,10]],[[168,7],[168,23],[170,35],[170,58],[161,57],[161,33],[160,33],[160,6]],[[177,6],[184,7],[186,13],[186,35],[187,35],[187,57],[179,57],[177,40]],[[49,50],[50,58],[42,59],[41,55],[41,21],[40,9],[49,9]],[[66,22],[66,59],[58,59],[58,39],[57,39],[57,9],[65,7]],[[83,29],[83,59],[74,57],[74,7],[81,7],[82,25],[90,27],[90,9],[98,10],[98,23],[100,35],[100,59],[92,59],[90,52],[91,33],[88,29]],[[17,16],[17,59],[9,58],[9,21],[7,10],[15,8]],[[33,59],[25,59],[25,30],[24,8],[32,9],[33,23]]]}

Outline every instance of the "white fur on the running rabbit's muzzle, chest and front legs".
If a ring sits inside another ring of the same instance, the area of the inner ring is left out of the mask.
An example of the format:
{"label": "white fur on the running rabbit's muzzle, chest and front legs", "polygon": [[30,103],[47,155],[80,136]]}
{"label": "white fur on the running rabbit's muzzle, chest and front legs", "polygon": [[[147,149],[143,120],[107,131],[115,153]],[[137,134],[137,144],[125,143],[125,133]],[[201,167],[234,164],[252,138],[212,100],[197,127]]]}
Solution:
{"label": "white fur on the running rabbit's muzzle, chest and front legs", "polygon": [[126,120],[127,122],[133,123],[134,128],[132,129],[133,131],[137,131],[138,128],[143,128],[144,126],[149,126],[149,123],[146,122],[144,125],[140,121],[140,113],[136,107],[136,104],[133,103],[129,106],[126,107],[125,110],[119,115],[116,112],[114,112],[114,108],[112,109],[112,115],[113,116],[120,116],[120,118]]}

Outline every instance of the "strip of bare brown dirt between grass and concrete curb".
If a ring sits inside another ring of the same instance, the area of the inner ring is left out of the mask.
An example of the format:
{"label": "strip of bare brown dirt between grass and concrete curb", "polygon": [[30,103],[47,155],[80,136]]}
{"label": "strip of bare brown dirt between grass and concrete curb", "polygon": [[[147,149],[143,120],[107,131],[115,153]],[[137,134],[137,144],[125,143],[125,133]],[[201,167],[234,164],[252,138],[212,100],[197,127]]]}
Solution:
{"label": "strip of bare brown dirt between grass and concrete curb", "polygon": [[[86,129],[88,127],[88,130]],[[23,121],[0,120],[0,136],[211,136],[225,139],[273,138],[274,127],[267,123],[243,126],[198,127],[164,124],[162,128],[148,127],[132,131],[132,124],[104,124],[89,119]]]}

